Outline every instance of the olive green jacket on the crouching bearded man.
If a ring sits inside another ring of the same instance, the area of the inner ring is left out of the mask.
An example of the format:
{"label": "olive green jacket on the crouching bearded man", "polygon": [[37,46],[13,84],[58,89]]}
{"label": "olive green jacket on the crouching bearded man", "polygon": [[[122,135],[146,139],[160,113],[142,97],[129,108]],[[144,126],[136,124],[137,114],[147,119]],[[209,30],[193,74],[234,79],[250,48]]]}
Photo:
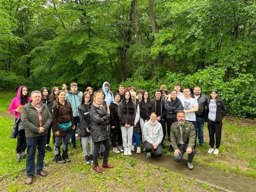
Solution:
{"label": "olive green jacket on the crouching bearded man", "polygon": [[[188,145],[188,147],[193,148],[195,145],[195,128],[193,127],[193,124],[185,121],[185,124],[182,127],[182,139],[185,145]],[[172,147],[174,150],[178,150],[178,144],[180,140],[180,129],[178,125],[178,121],[172,124],[170,126],[170,144],[172,144]]]}

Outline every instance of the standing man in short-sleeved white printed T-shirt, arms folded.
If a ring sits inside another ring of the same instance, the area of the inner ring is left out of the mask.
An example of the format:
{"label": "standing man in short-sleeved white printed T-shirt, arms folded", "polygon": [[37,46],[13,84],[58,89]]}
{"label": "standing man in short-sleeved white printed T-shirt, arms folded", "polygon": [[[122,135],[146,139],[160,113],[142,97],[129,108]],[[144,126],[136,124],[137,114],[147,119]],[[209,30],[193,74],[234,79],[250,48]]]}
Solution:
{"label": "standing man in short-sleeved white printed T-shirt, arms folded", "polygon": [[[190,88],[184,88],[183,89],[183,95],[184,97],[180,98],[180,101],[182,102],[184,112],[185,112],[185,120],[189,121],[193,124],[193,127],[195,128],[196,137],[198,135],[198,124],[196,123],[196,115],[195,112],[198,111],[198,101],[195,98],[192,98],[191,90]],[[194,148],[196,148],[196,138],[195,138],[195,145]],[[195,151],[196,154],[196,151]]]}

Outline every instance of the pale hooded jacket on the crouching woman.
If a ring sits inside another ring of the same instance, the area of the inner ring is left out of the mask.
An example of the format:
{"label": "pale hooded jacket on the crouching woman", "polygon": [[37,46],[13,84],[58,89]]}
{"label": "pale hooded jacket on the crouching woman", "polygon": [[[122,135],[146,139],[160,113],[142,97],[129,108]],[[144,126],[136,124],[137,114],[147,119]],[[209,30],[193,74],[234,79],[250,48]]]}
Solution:
{"label": "pale hooded jacket on the crouching woman", "polygon": [[162,125],[155,121],[152,123],[150,120],[144,124],[143,128],[143,135],[145,141],[149,142],[150,144],[156,143],[159,145],[163,139],[163,129]]}

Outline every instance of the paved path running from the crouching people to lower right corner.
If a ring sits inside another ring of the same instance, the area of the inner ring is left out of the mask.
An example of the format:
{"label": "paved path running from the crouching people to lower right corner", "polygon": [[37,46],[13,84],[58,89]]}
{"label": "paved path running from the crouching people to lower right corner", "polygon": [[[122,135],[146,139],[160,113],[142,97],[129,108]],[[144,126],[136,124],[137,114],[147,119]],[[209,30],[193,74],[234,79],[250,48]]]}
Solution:
{"label": "paved path running from the crouching people to lower right corner", "polygon": [[[163,155],[160,158],[152,157],[149,160],[146,158],[146,153],[134,154],[132,156],[147,163],[153,163],[168,168],[169,170],[178,172],[187,177],[206,181],[209,184],[224,188],[226,191],[256,191],[256,179],[251,177],[226,173],[218,168],[206,167],[196,163],[193,163],[194,168],[190,171],[186,165],[186,160],[183,160],[181,163],[176,163],[173,157],[168,155]],[[186,155],[184,155],[184,157],[186,158]]]}

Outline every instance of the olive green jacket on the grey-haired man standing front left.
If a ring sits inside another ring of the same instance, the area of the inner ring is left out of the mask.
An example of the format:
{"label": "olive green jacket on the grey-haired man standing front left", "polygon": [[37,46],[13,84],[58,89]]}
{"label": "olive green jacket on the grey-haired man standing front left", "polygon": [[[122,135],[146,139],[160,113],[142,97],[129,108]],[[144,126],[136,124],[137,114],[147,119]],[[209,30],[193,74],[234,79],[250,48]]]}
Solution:
{"label": "olive green jacket on the grey-haired man standing front left", "polygon": [[39,118],[37,109],[29,102],[24,105],[21,112],[21,121],[25,128],[26,137],[38,137],[41,135],[47,135],[48,128],[51,124],[51,113],[48,110],[46,104],[41,104],[42,110],[42,127],[45,128],[45,132],[39,134]]}

